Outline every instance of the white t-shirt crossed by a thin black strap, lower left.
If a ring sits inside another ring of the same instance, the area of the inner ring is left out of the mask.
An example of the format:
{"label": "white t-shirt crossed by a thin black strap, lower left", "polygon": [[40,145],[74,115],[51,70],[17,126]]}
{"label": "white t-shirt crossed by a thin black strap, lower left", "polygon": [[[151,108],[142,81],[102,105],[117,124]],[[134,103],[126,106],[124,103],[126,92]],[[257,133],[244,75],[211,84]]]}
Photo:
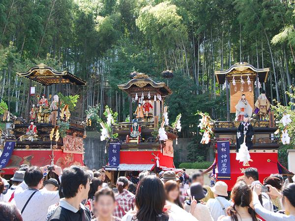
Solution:
{"label": "white t-shirt crossed by a thin black strap, lower left", "polygon": [[[24,221],[45,221],[49,206],[59,202],[59,191],[37,190],[31,197],[26,206],[22,217]],[[22,211],[30,195],[35,189],[27,189],[14,193],[14,202],[16,207]]]}

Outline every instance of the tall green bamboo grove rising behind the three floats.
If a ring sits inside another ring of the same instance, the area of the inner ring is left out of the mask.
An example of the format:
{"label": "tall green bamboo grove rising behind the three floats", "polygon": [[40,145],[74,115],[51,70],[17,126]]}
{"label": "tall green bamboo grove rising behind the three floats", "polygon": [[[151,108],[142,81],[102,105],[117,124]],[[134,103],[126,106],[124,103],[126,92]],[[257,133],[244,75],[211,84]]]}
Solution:
{"label": "tall green bamboo grove rising behind the three floats", "polygon": [[[295,84],[295,4],[292,0],[1,0],[0,97],[9,111],[25,115],[28,81],[16,72],[45,63],[69,70],[88,86],[63,86],[79,94],[75,116],[108,105],[118,121],[128,98],[118,83],[143,72],[165,81],[174,94],[169,115],[182,113],[182,137],[198,133],[198,110],[225,119],[225,91],[214,70],[236,62],[269,67],[270,100],[290,102]],[[174,78],[161,72],[173,70]],[[37,94],[56,94],[36,85]]]}

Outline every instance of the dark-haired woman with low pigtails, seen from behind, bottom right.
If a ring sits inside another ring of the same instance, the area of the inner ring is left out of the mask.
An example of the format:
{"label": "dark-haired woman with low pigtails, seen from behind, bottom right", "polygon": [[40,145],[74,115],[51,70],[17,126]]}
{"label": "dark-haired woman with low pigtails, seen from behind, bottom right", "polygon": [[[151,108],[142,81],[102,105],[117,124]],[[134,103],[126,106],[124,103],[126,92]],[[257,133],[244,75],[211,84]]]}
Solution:
{"label": "dark-haired woman with low pigtails, seen from behind, bottom right", "polygon": [[251,207],[251,187],[245,182],[236,183],[231,193],[231,199],[234,205],[228,208],[228,216],[221,216],[218,221],[260,221]]}

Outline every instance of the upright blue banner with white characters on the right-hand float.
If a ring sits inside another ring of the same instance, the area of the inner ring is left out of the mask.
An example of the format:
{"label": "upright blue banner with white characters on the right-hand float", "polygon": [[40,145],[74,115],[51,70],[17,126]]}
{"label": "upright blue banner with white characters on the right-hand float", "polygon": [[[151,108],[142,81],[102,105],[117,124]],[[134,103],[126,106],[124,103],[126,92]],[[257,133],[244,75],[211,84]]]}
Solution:
{"label": "upright blue banner with white characters on the right-hand float", "polygon": [[231,179],[230,141],[217,141],[218,180]]}

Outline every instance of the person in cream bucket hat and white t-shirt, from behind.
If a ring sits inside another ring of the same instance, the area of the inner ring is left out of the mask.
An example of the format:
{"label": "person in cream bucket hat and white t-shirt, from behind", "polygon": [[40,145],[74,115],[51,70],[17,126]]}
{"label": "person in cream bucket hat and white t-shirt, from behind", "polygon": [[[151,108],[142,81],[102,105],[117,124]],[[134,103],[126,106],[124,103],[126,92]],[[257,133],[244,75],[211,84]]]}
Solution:
{"label": "person in cream bucket hat and white t-shirt, from behind", "polygon": [[230,201],[225,198],[228,196],[228,185],[223,181],[217,181],[211,190],[215,198],[209,199],[206,206],[213,220],[217,221],[218,217],[226,215],[226,209],[231,206]]}

